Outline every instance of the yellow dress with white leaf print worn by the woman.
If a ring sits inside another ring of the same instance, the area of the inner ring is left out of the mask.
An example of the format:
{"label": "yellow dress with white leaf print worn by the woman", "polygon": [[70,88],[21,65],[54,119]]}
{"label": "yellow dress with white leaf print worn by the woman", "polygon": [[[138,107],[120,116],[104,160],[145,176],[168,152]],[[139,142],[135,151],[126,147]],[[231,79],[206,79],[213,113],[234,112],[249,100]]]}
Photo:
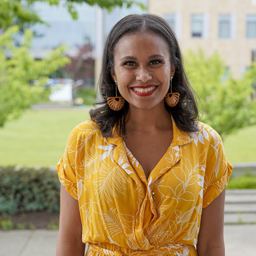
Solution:
{"label": "yellow dress with white leaf print worn by the woman", "polygon": [[79,201],[87,256],[196,256],[202,208],[224,189],[232,166],[220,136],[198,122],[194,133],[173,121],[173,141],[145,177],[117,134],[92,120],[76,126],[57,165]]}

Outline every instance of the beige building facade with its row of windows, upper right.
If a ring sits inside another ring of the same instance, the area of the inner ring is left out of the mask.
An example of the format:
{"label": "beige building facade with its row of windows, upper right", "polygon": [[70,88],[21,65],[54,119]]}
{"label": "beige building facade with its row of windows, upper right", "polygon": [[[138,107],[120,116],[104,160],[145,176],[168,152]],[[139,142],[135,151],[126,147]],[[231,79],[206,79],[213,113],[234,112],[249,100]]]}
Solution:
{"label": "beige building facade with its row of windows, upper right", "polygon": [[148,0],[148,12],[164,17],[181,50],[216,50],[236,76],[256,61],[256,0]]}

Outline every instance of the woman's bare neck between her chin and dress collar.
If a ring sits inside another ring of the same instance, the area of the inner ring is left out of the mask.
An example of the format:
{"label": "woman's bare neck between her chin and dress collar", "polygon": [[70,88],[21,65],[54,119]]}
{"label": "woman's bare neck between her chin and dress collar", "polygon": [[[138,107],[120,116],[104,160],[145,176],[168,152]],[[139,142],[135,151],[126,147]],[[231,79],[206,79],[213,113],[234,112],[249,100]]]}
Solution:
{"label": "woman's bare neck between her chin and dress collar", "polygon": [[130,106],[125,116],[125,128],[127,133],[148,132],[152,134],[160,130],[172,130],[171,114],[164,104],[149,110]]}

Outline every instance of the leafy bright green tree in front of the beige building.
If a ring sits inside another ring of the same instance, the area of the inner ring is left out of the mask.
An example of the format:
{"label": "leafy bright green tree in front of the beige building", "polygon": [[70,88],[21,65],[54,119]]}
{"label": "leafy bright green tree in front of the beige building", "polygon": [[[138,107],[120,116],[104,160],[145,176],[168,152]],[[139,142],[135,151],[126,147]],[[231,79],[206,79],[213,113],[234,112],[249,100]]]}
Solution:
{"label": "leafy bright green tree in front of the beige building", "polygon": [[186,72],[200,99],[202,122],[212,126],[222,137],[248,125],[256,124],[256,63],[236,79],[218,53],[206,57],[200,49],[186,54]]}

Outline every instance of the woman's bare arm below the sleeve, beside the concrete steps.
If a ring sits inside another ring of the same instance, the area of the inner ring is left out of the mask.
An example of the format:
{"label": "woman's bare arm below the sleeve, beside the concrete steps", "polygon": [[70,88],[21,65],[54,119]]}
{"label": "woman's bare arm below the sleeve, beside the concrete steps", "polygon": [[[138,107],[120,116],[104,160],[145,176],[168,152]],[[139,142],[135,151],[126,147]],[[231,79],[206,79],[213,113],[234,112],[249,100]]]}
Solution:
{"label": "woman's bare arm below the sleeve, beside the concrete steps", "polygon": [[202,210],[197,243],[198,256],[225,255],[224,203],[225,189],[209,206]]}

